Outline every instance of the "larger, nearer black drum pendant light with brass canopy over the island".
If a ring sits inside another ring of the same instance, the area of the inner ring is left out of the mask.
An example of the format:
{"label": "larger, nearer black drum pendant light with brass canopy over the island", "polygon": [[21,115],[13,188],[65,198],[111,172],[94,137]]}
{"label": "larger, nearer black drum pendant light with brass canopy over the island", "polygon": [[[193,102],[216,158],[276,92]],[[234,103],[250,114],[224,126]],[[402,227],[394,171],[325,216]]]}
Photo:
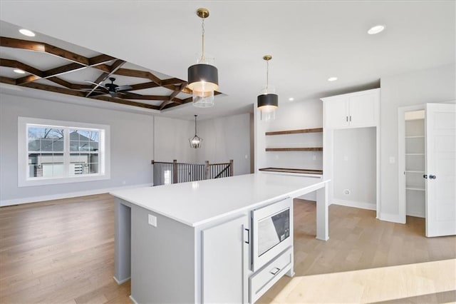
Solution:
{"label": "larger, nearer black drum pendant light with brass canopy over the island", "polygon": [[204,56],[204,19],[209,16],[208,9],[198,9],[197,16],[202,19],[202,54],[197,64],[188,68],[188,87],[192,90],[193,106],[209,108],[214,106],[214,91],[219,88],[217,68],[209,64]]}

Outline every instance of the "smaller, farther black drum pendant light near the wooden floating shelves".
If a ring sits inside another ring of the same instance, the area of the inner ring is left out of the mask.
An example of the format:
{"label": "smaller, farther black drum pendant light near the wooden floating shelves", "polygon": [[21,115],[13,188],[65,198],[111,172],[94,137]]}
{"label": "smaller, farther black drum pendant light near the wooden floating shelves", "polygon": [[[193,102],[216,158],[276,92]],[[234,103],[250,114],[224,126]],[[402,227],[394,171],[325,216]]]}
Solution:
{"label": "smaller, farther black drum pendant light near the wooden floating shelves", "polygon": [[257,97],[258,109],[262,121],[274,121],[276,108],[279,107],[279,96],[275,93],[274,86],[269,86],[269,60],[272,59],[272,56],[264,55],[263,59],[266,61],[266,87]]}

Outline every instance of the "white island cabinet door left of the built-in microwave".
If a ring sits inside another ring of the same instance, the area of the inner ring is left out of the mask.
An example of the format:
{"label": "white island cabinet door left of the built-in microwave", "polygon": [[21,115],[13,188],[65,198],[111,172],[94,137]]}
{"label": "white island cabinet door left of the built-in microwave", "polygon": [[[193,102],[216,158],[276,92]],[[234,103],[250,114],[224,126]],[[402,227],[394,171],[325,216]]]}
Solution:
{"label": "white island cabinet door left of the built-in microwave", "polygon": [[[247,216],[202,230],[202,303],[244,303]],[[246,293],[247,295],[247,293]]]}

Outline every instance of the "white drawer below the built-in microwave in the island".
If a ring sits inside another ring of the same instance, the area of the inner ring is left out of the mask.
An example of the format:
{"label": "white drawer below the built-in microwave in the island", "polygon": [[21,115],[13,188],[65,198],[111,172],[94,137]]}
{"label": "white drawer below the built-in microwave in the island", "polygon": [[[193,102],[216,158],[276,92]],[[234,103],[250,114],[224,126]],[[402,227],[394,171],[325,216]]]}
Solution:
{"label": "white drawer below the built-in microwave in the island", "polygon": [[254,303],[291,269],[293,247],[289,247],[249,278],[249,300]]}

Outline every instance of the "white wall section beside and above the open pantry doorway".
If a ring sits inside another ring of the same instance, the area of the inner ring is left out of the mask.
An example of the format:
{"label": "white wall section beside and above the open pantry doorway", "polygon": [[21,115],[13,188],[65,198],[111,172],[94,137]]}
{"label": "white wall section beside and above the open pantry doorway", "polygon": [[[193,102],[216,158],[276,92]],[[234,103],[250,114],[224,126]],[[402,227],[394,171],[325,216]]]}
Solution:
{"label": "white wall section beside and above the open pantry doorway", "polygon": [[[380,219],[400,222],[398,206],[398,107],[456,99],[456,66],[450,64],[380,80]],[[390,158],[395,162],[390,163]]]}

